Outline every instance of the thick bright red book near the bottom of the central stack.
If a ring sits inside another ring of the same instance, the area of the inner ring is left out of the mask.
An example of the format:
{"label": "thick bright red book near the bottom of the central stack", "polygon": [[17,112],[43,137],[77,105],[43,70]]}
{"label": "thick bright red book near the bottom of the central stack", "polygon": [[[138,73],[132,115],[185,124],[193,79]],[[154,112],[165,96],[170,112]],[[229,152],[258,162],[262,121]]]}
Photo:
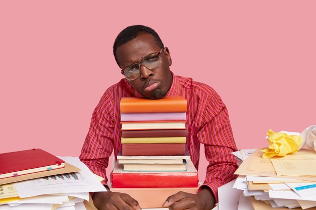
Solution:
{"label": "thick bright red book near the bottom of the central stack", "polygon": [[186,172],[126,172],[116,163],[111,174],[114,188],[131,187],[196,187],[198,174],[191,160],[187,160]]}

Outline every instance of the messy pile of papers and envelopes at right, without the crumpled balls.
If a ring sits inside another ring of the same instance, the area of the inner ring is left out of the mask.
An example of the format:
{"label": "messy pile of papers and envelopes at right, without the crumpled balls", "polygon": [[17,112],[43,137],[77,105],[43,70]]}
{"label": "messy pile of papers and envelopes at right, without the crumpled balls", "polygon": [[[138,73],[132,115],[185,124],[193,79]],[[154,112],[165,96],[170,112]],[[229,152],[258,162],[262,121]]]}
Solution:
{"label": "messy pile of papers and envelopes at right, without the crumpled balls", "polygon": [[[243,160],[234,182],[221,187],[233,194],[230,209],[316,209],[316,152],[301,149],[286,157],[263,159],[261,150]],[[228,209],[227,191],[221,188],[218,208]]]}

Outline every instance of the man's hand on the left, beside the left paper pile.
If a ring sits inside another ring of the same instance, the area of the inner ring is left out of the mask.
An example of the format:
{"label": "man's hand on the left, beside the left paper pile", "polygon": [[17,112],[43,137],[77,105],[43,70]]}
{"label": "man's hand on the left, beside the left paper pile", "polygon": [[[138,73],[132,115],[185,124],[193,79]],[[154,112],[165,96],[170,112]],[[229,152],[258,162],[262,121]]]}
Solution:
{"label": "man's hand on the left, beside the left paper pile", "polygon": [[111,191],[95,192],[92,195],[92,199],[95,207],[100,210],[141,210],[137,200],[125,193]]}

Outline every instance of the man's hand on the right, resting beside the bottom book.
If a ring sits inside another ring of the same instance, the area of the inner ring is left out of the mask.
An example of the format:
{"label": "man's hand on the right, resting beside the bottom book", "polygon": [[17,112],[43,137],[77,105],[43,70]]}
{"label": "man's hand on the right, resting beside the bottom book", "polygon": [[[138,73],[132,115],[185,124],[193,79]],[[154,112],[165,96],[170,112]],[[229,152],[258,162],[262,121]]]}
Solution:
{"label": "man's hand on the right, resting beside the bottom book", "polygon": [[178,192],[169,196],[163,203],[163,207],[169,207],[171,210],[210,210],[214,205],[214,195],[208,188],[202,189],[197,194]]}

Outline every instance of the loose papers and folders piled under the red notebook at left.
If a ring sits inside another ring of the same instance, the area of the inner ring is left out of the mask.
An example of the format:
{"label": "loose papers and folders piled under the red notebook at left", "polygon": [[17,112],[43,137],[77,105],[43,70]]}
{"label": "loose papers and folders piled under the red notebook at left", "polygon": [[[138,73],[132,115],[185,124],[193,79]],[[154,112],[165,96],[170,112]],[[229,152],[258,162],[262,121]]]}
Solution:
{"label": "loose papers and folders piled under the red notebook at left", "polygon": [[95,209],[89,192],[106,188],[79,158],[61,159],[65,168],[0,179],[0,210]]}

